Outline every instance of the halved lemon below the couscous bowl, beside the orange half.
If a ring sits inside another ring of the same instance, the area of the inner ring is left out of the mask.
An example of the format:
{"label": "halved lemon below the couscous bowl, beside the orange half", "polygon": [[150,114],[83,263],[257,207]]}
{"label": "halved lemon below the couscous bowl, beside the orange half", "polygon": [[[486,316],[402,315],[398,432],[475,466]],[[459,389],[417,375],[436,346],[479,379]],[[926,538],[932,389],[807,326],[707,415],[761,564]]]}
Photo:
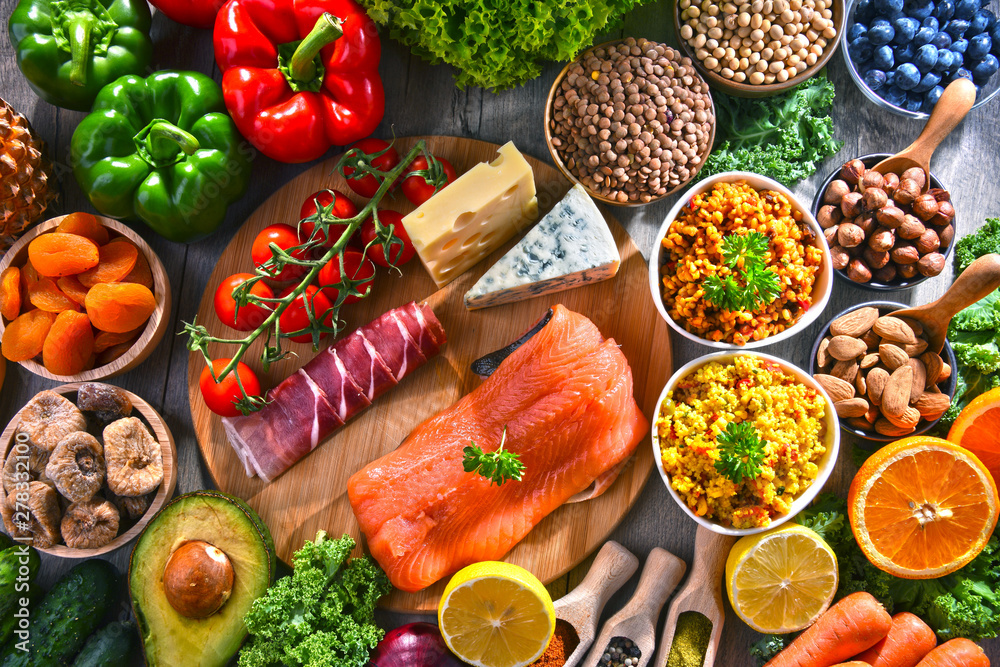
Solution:
{"label": "halved lemon below the couscous bowl, beside the orange half", "polygon": [[737,615],[757,632],[795,632],[830,606],[837,557],[819,535],[797,524],[750,535],[729,552],[726,591]]}

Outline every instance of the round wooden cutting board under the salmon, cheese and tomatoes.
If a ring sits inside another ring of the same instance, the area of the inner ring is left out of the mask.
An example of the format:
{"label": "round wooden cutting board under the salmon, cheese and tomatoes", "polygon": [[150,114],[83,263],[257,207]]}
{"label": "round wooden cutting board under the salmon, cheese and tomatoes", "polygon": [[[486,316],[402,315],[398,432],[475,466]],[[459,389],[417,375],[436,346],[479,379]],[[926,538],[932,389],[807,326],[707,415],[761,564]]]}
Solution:
{"label": "round wooden cutting board under the salmon, cheese and tomatoes", "polygon": [[[451,161],[459,174],[479,162],[492,160],[498,148],[495,144],[457,137],[413,137],[397,140],[400,155],[421,138],[435,155]],[[539,210],[544,214],[563,197],[570,184],[553,167],[530,157],[528,162],[535,174]],[[348,193],[359,207],[363,203],[335,173],[336,163],[337,158],[331,158],[318,164],[278,190],[233,237],[212,271],[198,308],[198,322],[214,335],[231,337],[235,333],[215,316],[213,295],[225,277],[252,272],[250,246],[261,229],[277,222],[296,224],[302,202],[323,188]],[[404,213],[413,208],[401,195],[385,207]],[[221,419],[208,410],[201,398],[198,377],[204,360],[200,354],[192,353],[188,367],[191,417],[216,485],[245,499],[261,515],[274,536],[278,555],[285,561],[321,529],[331,535],[349,533],[360,538],[360,527],[347,498],[348,478],[395,449],[424,419],[478,386],[481,380],[469,369],[469,364],[519,337],[555,303],[586,315],[606,337],[621,345],[632,366],[636,400],[651,418],[656,398],[671,373],[670,336],[649,293],[645,260],[621,225],[607,214],[606,218],[622,256],[621,268],[614,279],[520,303],[470,312],[462,302],[469,288],[516,239],[441,290],[435,287],[418,258],[402,267],[402,275],[379,269],[372,293],[342,309],[346,331],[409,301],[426,300],[443,323],[448,344],[438,357],[377,399],[367,411],[271,484],[246,476],[226,440]],[[274,364],[269,372],[263,373],[259,361],[261,344],[255,343],[244,361],[257,372],[265,388],[281,382],[315,354],[309,344],[288,343],[288,349],[298,356]],[[221,345],[210,348],[210,353],[213,358],[232,356]],[[652,459],[648,443],[641,442],[633,459],[604,495],[553,512],[505,560],[527,568],[546,583],[568,572],[600,546],[631,509],[652,470]],[[383,604],[404,612],[433,611],[444,583],[416,594],[395,591]]]}

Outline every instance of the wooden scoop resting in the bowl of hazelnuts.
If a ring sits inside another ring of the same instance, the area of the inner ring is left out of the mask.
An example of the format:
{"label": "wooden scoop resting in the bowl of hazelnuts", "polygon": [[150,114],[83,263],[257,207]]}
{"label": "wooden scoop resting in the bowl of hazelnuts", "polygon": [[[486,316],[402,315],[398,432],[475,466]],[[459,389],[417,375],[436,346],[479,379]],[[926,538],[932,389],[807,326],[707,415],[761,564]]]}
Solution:
{"label": "wooden scoop resting in the bowl of hazelnuts", "polygon": [[930,187],[931,155],[934,154],[934,149],[962,122],[975,103],[976,86],[964,77],[955,79],[948,84],[941,94],[941,99],[934,105],[931,117],[917,140],[892,157],[882,160],[872,169],[881,174],[902,174],[910,167],[920,167],[927,174],[923,188],[923,192],[927,192]]}

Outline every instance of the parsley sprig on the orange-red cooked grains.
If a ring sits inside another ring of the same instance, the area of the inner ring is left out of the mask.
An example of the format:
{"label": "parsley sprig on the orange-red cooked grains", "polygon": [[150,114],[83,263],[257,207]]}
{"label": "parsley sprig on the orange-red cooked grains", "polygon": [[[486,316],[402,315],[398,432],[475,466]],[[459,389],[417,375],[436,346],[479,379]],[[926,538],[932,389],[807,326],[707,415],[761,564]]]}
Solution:
{"label": "parsley sprig on the orange-red cooked grains", "polygon": [[755,311],[777,299],[781,281],[764,262],[770,244],[770,239],[760,232],[726,236],[722,240],[722,259],[733,272],[724,278],[706,278],[705,299],[729,311]]}

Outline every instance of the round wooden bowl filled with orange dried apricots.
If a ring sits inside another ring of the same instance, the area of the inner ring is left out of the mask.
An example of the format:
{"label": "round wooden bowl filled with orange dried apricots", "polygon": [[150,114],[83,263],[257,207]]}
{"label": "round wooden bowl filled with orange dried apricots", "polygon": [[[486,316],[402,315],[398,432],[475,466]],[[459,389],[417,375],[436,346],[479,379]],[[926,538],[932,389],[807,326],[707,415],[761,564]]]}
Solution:
{"label": "round wooden bowl filled with orange dried apricots", "polygon": [[160,258],[110,218],[52,218],[0,258],[0,352],[50,380],[134,368],[163,338],[169,313]]}

